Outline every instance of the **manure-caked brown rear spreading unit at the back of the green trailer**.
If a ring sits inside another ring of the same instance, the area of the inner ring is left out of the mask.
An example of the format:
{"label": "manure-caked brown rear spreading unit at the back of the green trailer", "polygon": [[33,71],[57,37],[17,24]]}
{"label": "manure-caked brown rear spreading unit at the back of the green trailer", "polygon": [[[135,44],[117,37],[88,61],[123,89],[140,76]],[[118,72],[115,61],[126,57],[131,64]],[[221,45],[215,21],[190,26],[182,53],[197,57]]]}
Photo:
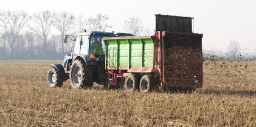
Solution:
{"label": "manure-caked brown rear spreading unit at the back of the green trailer", "polygon": [[154,64],[161,83],[202,86],[202,34],[156,31]]}

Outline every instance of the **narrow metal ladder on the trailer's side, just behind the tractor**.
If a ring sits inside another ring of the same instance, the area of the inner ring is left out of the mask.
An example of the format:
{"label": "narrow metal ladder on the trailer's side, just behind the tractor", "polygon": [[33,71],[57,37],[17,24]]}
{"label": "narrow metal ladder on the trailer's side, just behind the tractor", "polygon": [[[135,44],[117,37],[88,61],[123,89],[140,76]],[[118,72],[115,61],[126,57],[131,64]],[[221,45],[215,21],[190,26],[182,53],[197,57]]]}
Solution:
{"label": "narrow metal ladder on the trailer's side, just behind the tractor", "polygon": [[[117,73],[115,73],[116,65],[114,57],[116,55],[116,47],[109,48],[108,54],[108,84],[112,86],[117,85]],[[117,59],[117,57],[116,57]]]}

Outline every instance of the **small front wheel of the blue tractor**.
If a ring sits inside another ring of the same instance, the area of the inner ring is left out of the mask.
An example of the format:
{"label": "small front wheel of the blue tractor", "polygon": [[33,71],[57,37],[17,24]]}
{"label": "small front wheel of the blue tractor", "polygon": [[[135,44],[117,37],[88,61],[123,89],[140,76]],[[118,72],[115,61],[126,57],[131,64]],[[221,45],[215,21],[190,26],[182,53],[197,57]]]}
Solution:
{"label": "small front wheel of the blue tractor", "polygon": [[58,71],[55,67],[51,67],[47,75],[48,85],[50,87],[61,87],[63,82],[60,81]]}

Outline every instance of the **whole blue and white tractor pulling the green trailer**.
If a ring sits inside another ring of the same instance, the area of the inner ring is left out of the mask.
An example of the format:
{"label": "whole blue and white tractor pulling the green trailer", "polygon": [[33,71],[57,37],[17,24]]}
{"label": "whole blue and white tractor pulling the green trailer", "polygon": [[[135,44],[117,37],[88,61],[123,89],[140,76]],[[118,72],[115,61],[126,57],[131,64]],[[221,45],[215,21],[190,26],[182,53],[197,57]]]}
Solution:
{"label": "whole blue and white tractor pulling the green trailer", "polygon": [[52,64],[48,73],[49,86],[61,86],[67,79],[70,79],[72,88],[92,86],[93,82],[98,82],[105,74],[106,45],[102,38],[109,36],[114,36],[114,33],[91,31],[76,36],[66,35],[64,43],[69,38],[74,45],[64,56],[63,65]]}

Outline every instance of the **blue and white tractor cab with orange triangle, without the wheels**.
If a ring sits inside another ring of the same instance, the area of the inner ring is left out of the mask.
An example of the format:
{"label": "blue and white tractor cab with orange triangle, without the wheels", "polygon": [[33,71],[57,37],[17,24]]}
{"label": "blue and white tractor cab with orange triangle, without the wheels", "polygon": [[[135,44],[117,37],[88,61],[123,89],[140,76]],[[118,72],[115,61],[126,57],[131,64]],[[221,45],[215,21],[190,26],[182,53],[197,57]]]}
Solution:
{"label": "blue and white tractor cab with orange triangle, without the wheels", "polygon": [[[69,64],[75,59],[85,60],[86,65],[95,65],[100,60],[100,57],[105,56],[106,45],[103,37],[113,36],[114,33],[104,31],[91,31],[79,33],[77,36],[66,35],[64,42],[67,42],[67,37],[75,41],[71,47],[71,52],[64,56],[63,67],[64,70],[69,70]],[[95,57],[95,58],[94,58]]]}

